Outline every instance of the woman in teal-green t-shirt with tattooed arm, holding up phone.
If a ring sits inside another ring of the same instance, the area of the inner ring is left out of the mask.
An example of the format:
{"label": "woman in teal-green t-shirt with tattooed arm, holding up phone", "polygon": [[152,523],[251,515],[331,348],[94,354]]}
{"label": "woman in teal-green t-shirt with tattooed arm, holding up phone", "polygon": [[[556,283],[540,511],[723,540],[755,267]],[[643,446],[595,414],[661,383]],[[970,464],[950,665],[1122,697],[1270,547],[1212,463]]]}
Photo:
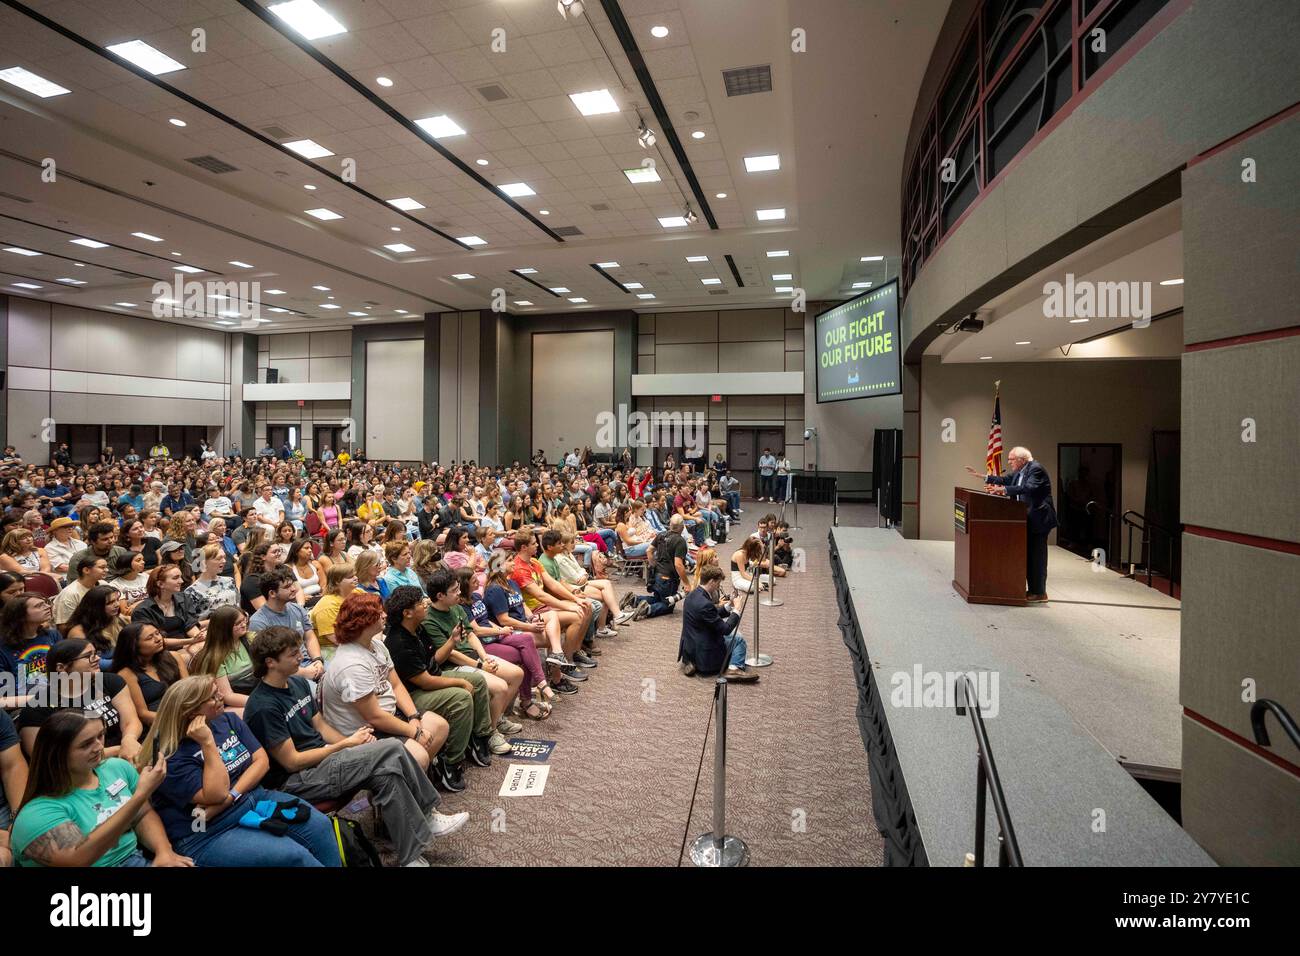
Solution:
{"label": "woman in teal-green t-shirt with tattooed arm, holding up phone", "polygon": [[[31,750],[22,809],[13,822],[21,866],[194,866],[179,856],[150,805],[166,777],[161,760],[136,771],[120,757],[104,760],[104,722],[61,710],[42,726]],[[136,839],[139,838],[139,839]]]}

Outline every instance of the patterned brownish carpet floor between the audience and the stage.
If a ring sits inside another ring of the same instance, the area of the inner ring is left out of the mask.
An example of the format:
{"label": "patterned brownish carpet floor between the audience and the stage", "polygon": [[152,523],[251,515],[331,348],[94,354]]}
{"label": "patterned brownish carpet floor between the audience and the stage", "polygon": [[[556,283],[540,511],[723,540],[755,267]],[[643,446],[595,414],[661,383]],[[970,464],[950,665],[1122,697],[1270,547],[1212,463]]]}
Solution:
{"label": "patterned brownish carpet floor between the audience and the stage", "polygon": [[[745,514],[719,550],[771,505]],[[763,653],[775,663],[757,684],[729,688],[727,830],[759,866],[872,866],[883,862],[871,818],[867,758],[858,735],[857,693],[836,627],[827,532],[828,506],[802,506],[806,571],[777,581],[781,607],[762,607]],[[875,525],[871,506],[842,506],[840,523]],[[615,578],[620,596],[636,587]],[[741,633],[754,650],[754,607]],[[676,866],[684,839],[712,822],[712,682],[676,663],[681,615],[637,622],[601,640],[599,666],[550,719],[524,721],[516,736],[555,741],[545,793],[499,796],[507,758],[465,770],[468,787],[446,795],[443,812],[468,810],[465,827],[438,840],[434,865]],[[701,749],[705,748],[703,767]],[[694,800],[693,800],[694,797]],[[387,857],[387,847],[381,847]],[[390,860],[391,861],[391,860]],[[690,865],[689,853],[684,865]]]}

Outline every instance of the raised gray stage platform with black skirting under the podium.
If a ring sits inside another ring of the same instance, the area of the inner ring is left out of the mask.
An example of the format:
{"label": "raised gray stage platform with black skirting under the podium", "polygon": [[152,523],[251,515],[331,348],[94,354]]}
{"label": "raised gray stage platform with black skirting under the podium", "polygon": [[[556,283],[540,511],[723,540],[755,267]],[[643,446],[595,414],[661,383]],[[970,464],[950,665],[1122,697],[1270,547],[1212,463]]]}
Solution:
{"label": "raised gray stage platform with black skirting under the podium", "polygon": [[[1028,607],[966,604],[950,541],[833,528],[831,555],[888,862],[974,849],[975,735],[950,689],[974,671],[1026,865],[1213,865],[1121,766],[1180,765],[1178,601],[1057,548],[1052,601]],[[985,834],[994,865],[992,801]]]}

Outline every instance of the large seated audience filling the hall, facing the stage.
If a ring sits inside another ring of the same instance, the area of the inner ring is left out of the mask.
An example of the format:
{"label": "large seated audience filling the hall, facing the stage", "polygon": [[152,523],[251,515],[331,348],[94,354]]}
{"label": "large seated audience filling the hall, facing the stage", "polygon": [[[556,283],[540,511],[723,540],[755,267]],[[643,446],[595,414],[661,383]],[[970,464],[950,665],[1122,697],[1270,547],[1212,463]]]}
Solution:
{"label": "large seated audience filling the hall, facing the stage", "polygon": [[630,455],[6,462],[0,865],[338,865],[315,804],[360,790],[426,865],[467,817],[438,790],[701,587],[740,514],[725,470]]}

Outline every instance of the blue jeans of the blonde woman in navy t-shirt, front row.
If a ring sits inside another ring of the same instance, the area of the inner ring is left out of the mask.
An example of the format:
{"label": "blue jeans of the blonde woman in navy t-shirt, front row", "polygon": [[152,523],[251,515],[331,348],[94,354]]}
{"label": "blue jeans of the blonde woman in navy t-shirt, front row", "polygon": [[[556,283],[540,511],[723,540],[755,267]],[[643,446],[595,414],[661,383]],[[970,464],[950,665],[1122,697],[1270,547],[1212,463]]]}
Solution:
{"label": "blue jeans of the blonde woman in navy t-shirt, front row", "polygon": [[[195,866],[342,866],[334,825],[315,808],[302,823],[290,823],[283,836],[239,826],[239,818],[259,800],[298,797],[257,787],[209,823],[205,832],[179,840],[176,852],[192,858]],[[299,803],[311,806],[302,800]]]}

